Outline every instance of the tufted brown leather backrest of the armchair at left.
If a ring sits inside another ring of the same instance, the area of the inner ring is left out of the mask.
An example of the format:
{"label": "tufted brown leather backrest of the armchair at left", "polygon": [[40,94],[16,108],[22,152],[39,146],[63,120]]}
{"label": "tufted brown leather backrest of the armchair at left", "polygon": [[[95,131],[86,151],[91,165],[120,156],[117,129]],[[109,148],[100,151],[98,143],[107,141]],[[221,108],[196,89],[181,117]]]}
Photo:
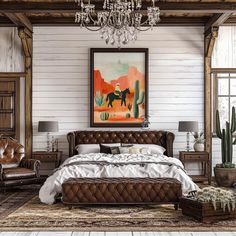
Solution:
{"label": "tufted brown leather backrest of the armchair at left", "polygon": [[18,167],[25,155],[24,147],[13,138],[0,138],[0,164],[2,166]]}

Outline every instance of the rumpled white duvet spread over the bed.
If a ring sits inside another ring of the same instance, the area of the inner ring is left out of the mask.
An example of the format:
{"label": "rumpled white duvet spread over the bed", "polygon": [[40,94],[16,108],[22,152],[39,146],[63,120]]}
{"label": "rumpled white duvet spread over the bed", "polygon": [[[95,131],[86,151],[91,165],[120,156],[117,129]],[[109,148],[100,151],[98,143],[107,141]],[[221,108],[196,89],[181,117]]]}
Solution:
{"label": "rumpled white duvet spread over the bed", "polygon": [[199,189],[176,158],[157,154],[90,153],[68,158],[48,177],[39,191],[41,202],[53,204],[55,196],[61,193],[62,183],[69,178],[80,177],[176,178],[182,183],[184,194]]}

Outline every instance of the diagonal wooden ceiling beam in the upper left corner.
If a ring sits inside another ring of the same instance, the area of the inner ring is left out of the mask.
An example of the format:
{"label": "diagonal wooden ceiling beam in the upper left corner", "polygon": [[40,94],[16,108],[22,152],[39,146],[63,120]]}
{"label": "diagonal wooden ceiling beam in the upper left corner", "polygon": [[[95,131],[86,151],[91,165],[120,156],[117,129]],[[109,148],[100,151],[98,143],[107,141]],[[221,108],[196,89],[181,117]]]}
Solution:
{"label": "diagonal wooden ceiling beam in the upper left corner", "polygon": [[4,13],[17,27],[27,28],[33,32],[33,26],[29,19],[23,13]]}

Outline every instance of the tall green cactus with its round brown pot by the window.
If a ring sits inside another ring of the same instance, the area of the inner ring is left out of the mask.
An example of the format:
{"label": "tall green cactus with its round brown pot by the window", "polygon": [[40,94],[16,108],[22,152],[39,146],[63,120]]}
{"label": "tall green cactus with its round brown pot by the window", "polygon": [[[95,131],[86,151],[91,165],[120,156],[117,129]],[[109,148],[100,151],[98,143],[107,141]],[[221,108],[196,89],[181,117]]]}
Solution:
{"label": "tall green cactus with its round brown pot by the window", "polygon": [[231,187],[236,180],[236,168],[233,163],[233,145],[236,138],[233,133],[236,131],[235,107],[232,107],[231,124],[226,121],[225,128],[221,129],[219,111],[216,111],[216,135],[221,139],[222,163],[214,168],[215,179],[219,186]]}

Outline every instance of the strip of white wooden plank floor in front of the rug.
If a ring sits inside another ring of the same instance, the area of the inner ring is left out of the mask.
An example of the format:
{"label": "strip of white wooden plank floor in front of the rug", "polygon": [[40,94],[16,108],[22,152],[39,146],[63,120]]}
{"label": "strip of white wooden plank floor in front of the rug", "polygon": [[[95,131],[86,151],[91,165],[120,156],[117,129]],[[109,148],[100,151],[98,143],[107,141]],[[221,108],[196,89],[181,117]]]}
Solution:
{"label": "strip of white wooden plank floor in front of the rug", "polygon": [[236,236],[236,232],[1,232],[0,236]]}

